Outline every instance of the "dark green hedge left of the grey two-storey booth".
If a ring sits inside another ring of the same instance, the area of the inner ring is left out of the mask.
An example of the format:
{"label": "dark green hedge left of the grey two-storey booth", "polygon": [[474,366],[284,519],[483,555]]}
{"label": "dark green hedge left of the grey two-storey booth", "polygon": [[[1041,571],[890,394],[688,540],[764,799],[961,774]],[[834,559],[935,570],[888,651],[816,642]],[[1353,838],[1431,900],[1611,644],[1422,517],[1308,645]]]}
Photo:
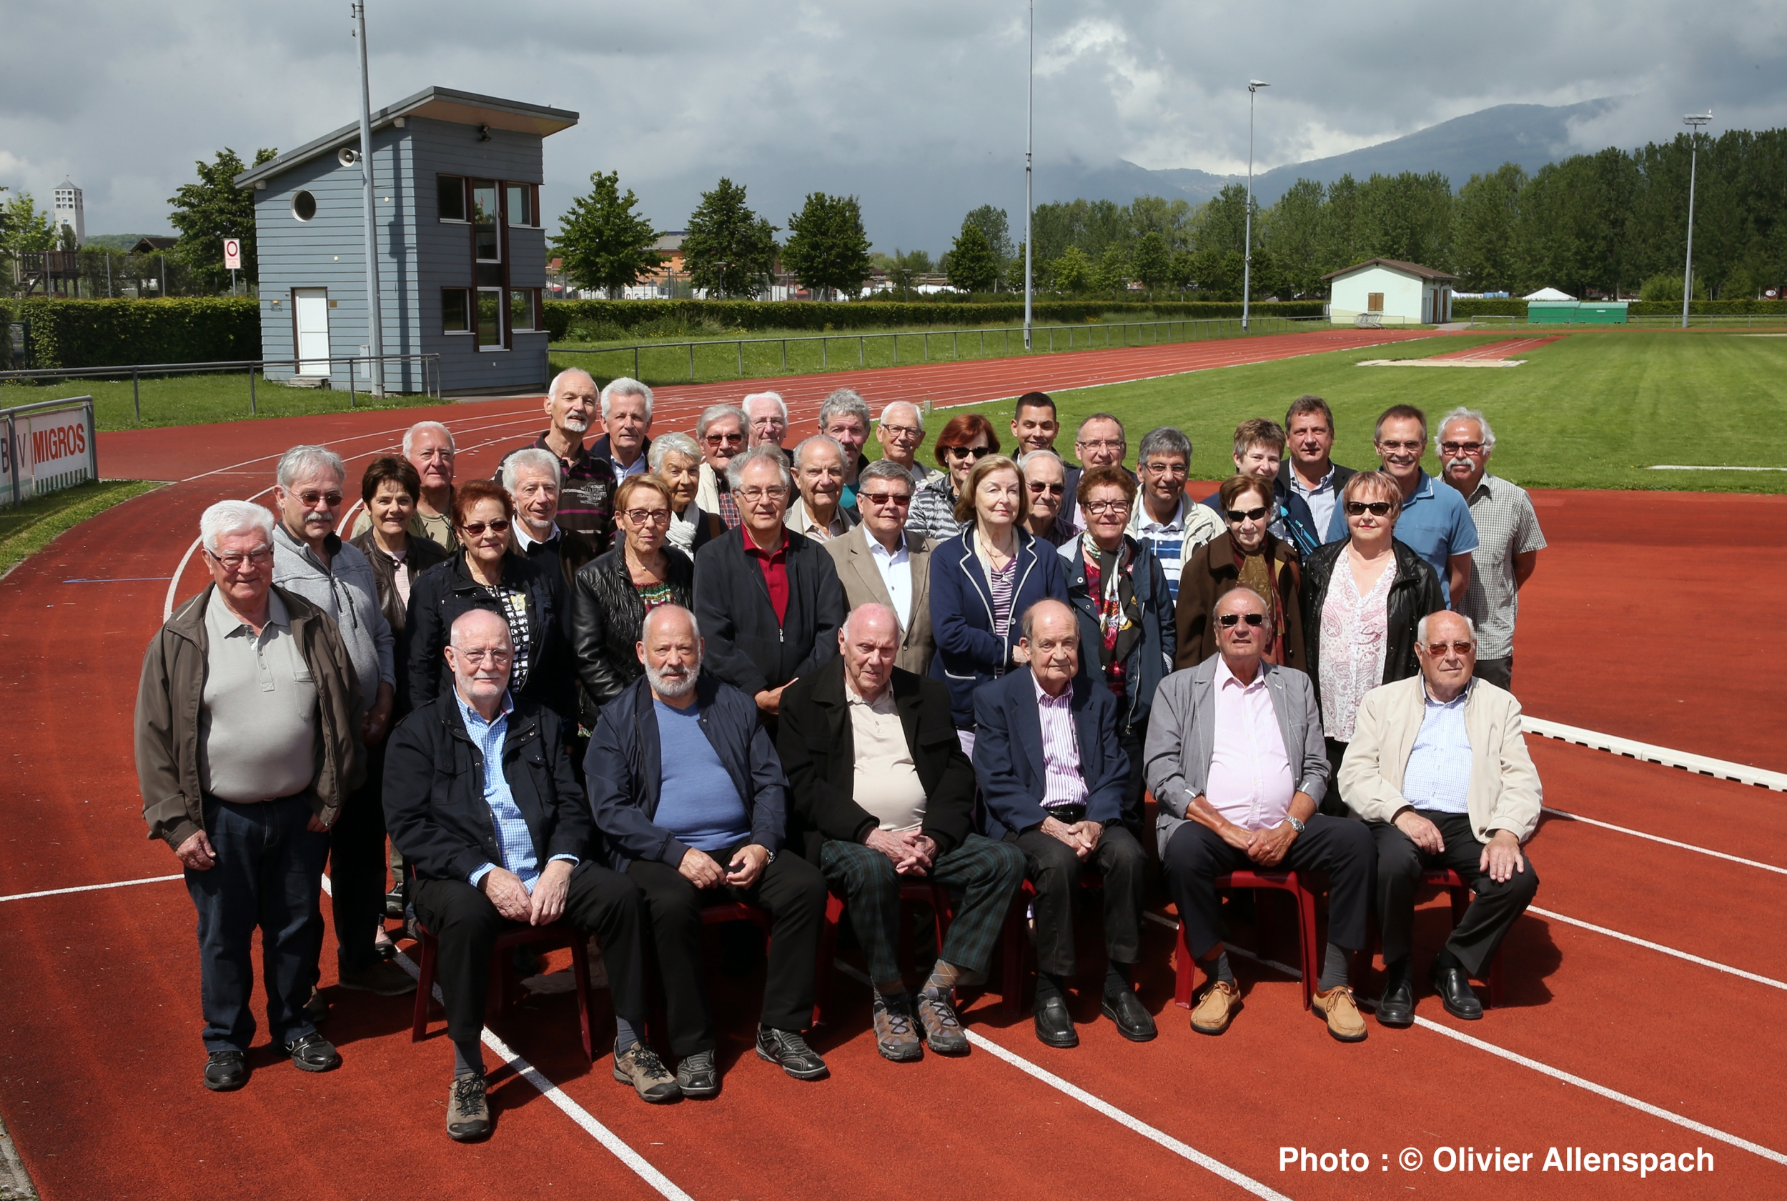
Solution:
{"label": "dark green hedge left of the grey two-storey booth", "polygon": [[261,357],[261,307],[252,297],[18,302],[27,366],[120,366]]}

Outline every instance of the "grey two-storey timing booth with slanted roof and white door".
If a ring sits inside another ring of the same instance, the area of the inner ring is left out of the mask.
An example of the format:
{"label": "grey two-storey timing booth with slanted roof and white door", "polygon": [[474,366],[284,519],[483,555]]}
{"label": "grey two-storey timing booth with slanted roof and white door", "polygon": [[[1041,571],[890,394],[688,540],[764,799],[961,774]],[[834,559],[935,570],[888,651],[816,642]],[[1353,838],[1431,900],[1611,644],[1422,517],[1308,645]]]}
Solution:
{"label": "grey two-storey timing booth with slanted roof and white door", "polygon": [[[429,88],[372,114],[379,304],[388,391],[447,395],[545,388],[547,275],[541,143],[575,113]],[[366,354],[359,122],[236,177],[254,189],[261,356],[293,359],[268,379],[348,388]],[[331,363],[329,359],[336,361]],[[368,382],[366,365],[354,386]]]}

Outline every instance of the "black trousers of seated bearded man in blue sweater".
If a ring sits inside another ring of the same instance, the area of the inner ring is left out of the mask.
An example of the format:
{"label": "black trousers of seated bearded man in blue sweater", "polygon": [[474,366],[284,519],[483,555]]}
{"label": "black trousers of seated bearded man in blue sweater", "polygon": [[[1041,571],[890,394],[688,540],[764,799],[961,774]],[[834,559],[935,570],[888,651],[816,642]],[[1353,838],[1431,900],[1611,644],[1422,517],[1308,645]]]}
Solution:
{"label": "black trousers of seated bearded man in blue sweater", "polygon": [[[713,858],[726,867],[743,845]],[[702,890],[668,863],[645,860],[633,860],[627,876],[645,894],[645,915],[665,985],[670,1051],[677,1058],[713,1051],[715,1046],[701,965],[701,910],[706,904],[743,901],[770,915],[768,970],[758,1020],[770,1029],[790,1031],[813,1024],[813,969],[818,963],[818,933],[826,924],[826,878],[817,867],[784,851],[749,888],[720,885]]]}

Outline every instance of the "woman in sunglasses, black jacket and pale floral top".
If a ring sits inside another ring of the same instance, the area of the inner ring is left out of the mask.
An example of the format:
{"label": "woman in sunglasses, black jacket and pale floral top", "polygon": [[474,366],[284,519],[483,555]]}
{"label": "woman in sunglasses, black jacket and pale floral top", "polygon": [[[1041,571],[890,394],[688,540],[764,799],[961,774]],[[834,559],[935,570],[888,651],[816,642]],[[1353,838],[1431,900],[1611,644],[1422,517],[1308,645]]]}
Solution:
{"label": "woman in sunglasses, black jacket and pale floral top", "polygon": [[[1415,627],[1446,608],[1440,579],[1394,536],[1403,490],[1387,472],[1358,472],[1340,490],[1337,513],[1347,536],[1310,552],[1303,565],[1303,627],[1310,674],[1322,706],[1328,765],[1338,781],[1340,760],[1353,740],[1358,702],[1380,684],[1421,670]],[[1338,783],[1328,788],[1324,813],[1346,813]]]}

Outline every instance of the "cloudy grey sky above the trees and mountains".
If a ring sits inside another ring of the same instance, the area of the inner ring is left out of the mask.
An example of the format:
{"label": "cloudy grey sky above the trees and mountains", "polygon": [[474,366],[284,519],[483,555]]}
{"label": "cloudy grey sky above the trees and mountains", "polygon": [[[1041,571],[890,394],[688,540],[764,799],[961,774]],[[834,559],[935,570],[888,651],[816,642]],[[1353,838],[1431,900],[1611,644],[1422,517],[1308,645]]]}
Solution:
{"label": "cloudy grey sky above the trees and mountains", "polygon": [[[0,5],[0,186],[46,204],[70,175],[89,232],[166,232],[193,159],[357,116],[347,0]],[[615,168],[661,229],[720,175],[777,225],[808,191],[858,193],[879,250],[938,252],[979,204],[1022,214],[1022,0],[368,0],[368,25],[373,107],[440,84],[583,114],[547,141],[549,218]],[[1508,102],[1630,97],[1583,148],[1689,109],[1787,123],[1780,0],[1038,0],[1035,61],[1038,200],[1069,161],[1242,170],[1249,75],[1272,82],[1262,168]]]}

